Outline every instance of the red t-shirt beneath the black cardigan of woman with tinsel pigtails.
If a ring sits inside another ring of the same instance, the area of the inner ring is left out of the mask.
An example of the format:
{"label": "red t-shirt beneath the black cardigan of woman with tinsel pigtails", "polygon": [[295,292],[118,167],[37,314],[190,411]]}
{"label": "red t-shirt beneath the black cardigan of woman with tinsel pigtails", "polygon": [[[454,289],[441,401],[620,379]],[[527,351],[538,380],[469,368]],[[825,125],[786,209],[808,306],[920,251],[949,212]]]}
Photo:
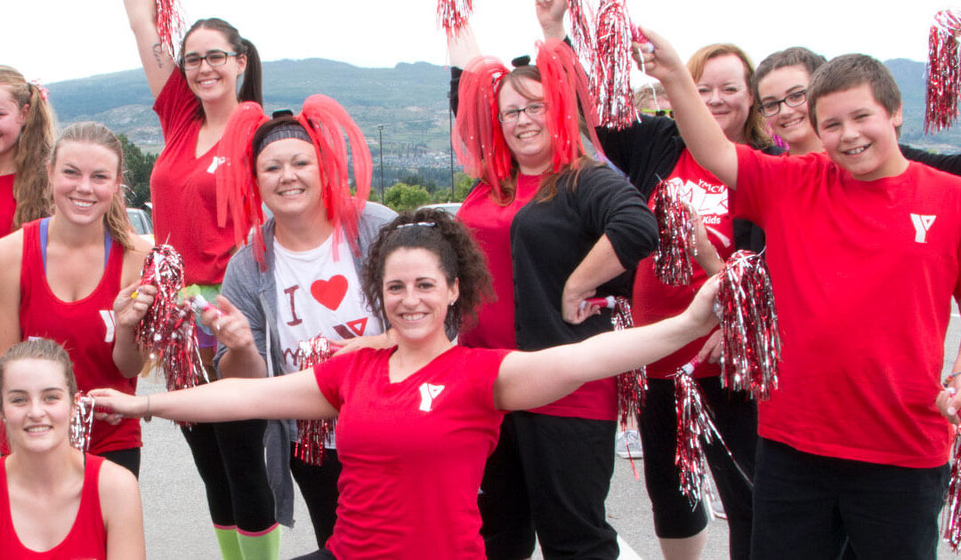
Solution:
{"label": "red t-shirt beneath the black cardigan of woman with tinsel pigtails", "polygon": [[514,336],[514,270],[510,257],[510,222],[517,210],[537,193],[539,175],[519,175],[514,200],[502,207],[491,198],[491,187],[480,183],[457,210],[457,219],[467,226],[480,251],[487,258],[494,301],[484,302],[476,325],[457,334],[457,341],[470,348],[517,349]]}

